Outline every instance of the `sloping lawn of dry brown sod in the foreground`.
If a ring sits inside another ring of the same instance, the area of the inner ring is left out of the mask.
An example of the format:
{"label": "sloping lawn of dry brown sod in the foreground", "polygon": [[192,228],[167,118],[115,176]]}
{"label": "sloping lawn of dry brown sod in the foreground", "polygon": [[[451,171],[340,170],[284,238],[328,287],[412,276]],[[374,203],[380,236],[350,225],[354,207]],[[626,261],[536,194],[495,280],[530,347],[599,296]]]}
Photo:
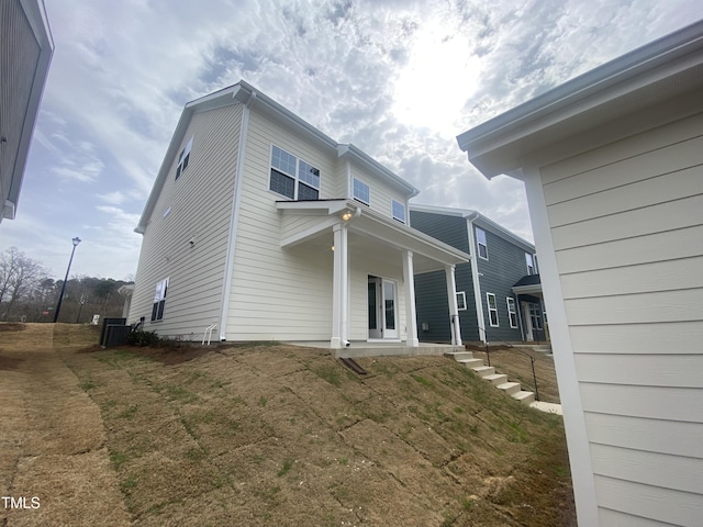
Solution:
{"label": "sloping lawn of dry brown sod in the foreground", "polygon": [[0,492],[41,508],[0,526],[576,525],[561,418],[449,359],[359,359],[361,378],[311,348],[12,329]]}

